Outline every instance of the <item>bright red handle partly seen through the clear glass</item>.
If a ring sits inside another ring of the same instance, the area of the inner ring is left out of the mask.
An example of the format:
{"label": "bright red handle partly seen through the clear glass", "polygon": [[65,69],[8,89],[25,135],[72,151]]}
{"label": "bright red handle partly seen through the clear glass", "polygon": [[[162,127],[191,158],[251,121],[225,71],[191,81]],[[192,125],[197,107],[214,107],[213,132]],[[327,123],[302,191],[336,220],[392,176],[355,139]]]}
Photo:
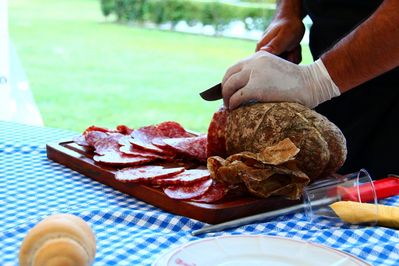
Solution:
{"label": "bright red handle partly seen through the clear glass", "polygon": [[[373,181],[377,199],[385,199],[399,195],[399,178],[389,176]],[[370,184],[362,184],[359,187],[338,187],[342,200],[371,202],[374,200],[374,193]],[[359,200],[360,196],[360,200]]]}

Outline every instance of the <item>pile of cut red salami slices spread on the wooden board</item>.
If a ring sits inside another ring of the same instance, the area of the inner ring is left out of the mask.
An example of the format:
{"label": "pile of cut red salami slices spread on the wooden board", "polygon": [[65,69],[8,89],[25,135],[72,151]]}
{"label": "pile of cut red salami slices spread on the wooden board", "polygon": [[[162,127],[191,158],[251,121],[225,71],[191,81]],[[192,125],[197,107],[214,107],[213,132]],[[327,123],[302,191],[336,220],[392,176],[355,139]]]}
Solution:
{"label": "pile of cut red salami slices spread on the wooden board", "polygon": [[135,130],[91,126],[74,141],[93,148],[97,163],[115,167],[120,182],[160,187],[170,198],[198,202],[214,202],[227,193],[206,168],[207,135],[176,122]]}

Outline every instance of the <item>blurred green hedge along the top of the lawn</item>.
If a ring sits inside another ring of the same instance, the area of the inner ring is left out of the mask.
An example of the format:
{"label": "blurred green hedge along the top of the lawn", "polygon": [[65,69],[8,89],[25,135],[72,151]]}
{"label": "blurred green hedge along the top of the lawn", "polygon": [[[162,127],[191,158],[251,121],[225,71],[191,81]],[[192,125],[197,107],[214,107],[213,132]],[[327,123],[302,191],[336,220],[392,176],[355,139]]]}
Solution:
{"label": "blurred green hedge along the top of the lawn", "polygon": [[[274,14],[273,4],[231,3],[200,0],[100,0],[104,16],[115,14],[119,22],[153,22],[157,25],[179,21],[189,25],[201,22],[216,32],[231,21],[241,20],[248,29],[264,30]],[[252,18],[248,20],[248,18]]]}

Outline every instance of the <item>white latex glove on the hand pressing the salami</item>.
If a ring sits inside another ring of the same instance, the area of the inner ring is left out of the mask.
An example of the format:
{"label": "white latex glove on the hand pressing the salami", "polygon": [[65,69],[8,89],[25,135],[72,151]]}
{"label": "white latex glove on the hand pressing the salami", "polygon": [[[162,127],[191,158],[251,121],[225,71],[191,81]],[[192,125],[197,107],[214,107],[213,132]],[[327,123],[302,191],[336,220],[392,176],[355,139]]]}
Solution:
{"label": "white latex glove on the hand pressing the salami", "polygon": [[341,94],[320,59],[302,66],[265,51],[230,67],[222,88],[223,101],[229,109],[250,100],[297,102],[314,108]]}

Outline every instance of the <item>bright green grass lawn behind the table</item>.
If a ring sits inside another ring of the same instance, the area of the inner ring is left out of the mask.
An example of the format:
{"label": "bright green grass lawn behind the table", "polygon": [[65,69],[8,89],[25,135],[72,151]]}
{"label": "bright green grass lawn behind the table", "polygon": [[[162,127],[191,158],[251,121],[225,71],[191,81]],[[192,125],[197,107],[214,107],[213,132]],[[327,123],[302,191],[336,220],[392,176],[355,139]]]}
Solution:
{"label": "bright green grass lawn behind the table", "polygon": [[204,132],[221,101],[203,101],[198,93],[255,48],[255,41],[106,21],[97,0],[18,0],[9,6],[11,39],[49,127],[82,131],[93,124],[173,120]]}

